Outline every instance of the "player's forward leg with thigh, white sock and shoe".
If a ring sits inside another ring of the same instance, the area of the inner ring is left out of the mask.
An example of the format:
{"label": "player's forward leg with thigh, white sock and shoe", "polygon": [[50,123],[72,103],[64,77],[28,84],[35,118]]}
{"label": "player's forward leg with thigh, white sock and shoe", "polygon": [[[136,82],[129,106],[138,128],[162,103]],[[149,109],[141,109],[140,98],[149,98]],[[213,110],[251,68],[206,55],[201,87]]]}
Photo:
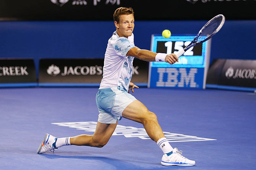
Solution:
{"label": "player's forward leg with thigh, white sock and shoe", "polygon": [[181,152],[177,148],[172,148],[166,140],[164,133],[157,121],[156,114],[149,111],[143,103],[134,100],[128,105],[122,113],[126,119],[130,119],[143,124],[149,137],[156,141],[157,145],[162,149],[164,155],[162,157],[162,165],[180,165],[192,166],[195,165],[194,160],[189,160],[181,156]]}

